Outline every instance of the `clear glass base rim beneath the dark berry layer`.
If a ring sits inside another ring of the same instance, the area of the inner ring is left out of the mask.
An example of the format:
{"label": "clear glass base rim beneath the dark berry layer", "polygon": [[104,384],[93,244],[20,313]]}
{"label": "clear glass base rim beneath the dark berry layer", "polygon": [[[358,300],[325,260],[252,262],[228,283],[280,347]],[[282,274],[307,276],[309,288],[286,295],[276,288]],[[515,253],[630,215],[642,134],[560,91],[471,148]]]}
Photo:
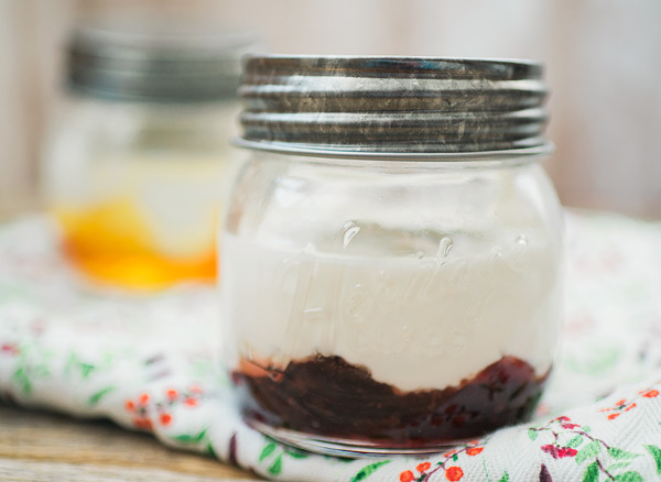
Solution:
{"label": "clear glass base rim beneath the dark berry layer", "polygon": [[353,440],[337,437],[322,437],[313,434],[305,434],[286,428],[273,427],[269,424],[246,418],[246,423],[251,428],[271,437],[282,443],[306,450],[308,452],[321,453],[323,456],[362,458],[362,457],[387,457],[387,456],[414,456],[423,453],[436,453],[456,446],[468,443],[474,439],[453,440],[452,442],[434,442],[430,445],[395,446],[387,442],[376,442],[367,440]]}

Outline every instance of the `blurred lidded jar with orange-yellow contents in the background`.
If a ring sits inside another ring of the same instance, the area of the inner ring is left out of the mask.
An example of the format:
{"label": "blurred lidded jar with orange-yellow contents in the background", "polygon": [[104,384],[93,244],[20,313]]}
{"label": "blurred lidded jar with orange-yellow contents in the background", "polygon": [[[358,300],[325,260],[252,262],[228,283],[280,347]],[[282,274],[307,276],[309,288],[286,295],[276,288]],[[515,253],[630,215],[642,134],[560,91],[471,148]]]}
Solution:
{"label": "blurred lidded jar with orange-yellow contents in the background", "polygon": [[91,278],[154,289],[216,277],[238,58],[250,44],[199,25],[75,29],[43,180],[63,250]]}

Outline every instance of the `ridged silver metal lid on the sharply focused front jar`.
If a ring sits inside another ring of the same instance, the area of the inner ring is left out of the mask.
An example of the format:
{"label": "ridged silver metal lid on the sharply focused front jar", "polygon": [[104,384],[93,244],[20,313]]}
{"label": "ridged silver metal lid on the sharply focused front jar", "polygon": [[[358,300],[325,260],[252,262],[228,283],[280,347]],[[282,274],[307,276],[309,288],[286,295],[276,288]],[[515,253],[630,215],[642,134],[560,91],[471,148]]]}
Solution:
{"label": "ridged silver metal lid on the sharply focused front jar", "polygon": [[534,62],[249,55],[239,95],[237,143],[252,149],[379,158],[551,150]]}

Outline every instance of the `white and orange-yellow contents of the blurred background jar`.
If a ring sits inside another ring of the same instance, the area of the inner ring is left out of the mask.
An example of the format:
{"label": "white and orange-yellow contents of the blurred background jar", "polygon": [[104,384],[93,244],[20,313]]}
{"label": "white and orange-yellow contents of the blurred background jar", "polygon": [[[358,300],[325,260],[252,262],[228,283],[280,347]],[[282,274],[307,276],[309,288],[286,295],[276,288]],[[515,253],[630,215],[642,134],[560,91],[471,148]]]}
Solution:
{"label": "white and orange-yellow contents of the blurred background jar", "polygon": [[141,156],[96,160],[86,171],[77,189],[50,202],[63,252],[84,274],[138,289],[215,281],[225,163]]}

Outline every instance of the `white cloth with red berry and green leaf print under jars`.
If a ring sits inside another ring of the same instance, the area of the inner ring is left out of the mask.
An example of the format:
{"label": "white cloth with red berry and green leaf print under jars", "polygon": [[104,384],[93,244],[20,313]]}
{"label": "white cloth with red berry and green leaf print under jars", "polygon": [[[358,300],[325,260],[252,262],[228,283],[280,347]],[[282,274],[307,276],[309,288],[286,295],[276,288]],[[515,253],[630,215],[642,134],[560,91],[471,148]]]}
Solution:
{"label": "white cloth with red berry and green leaf print under jars", "polygon": [[567,231],[563,339],[537,419],[444,453],[338,459],[256,432],[217,370],[217,289],[90,288],[41,217],[0,224],[0,397],[288,481],[660,480],[661,224],[570,213]]}

